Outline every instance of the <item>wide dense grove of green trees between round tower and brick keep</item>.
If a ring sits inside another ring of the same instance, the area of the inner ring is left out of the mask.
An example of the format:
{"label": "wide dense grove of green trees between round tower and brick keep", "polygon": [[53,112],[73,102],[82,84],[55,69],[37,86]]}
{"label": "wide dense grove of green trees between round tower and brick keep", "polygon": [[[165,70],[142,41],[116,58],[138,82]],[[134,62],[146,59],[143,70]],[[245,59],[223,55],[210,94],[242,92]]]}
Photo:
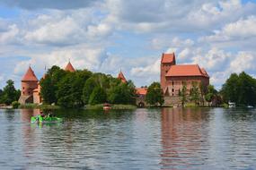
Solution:
{"label": "wide dense grove of green trees between round tower and brick keep", "polygon": [[136,103],[136,89],[109,74],[88,70],[66,72],[52,66],[40,80],[43,103],[64,107],[82,107],[109,102],[111,104]]}

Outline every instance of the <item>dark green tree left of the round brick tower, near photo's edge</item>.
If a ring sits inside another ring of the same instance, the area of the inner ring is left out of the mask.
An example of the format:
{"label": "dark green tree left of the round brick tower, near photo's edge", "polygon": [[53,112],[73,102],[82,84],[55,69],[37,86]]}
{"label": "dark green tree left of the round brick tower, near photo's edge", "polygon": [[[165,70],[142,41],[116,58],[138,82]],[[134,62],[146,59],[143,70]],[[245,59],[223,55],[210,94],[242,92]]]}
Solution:
{"label": "dark green tree left of the round brick tower, near photo's edge", "polygon": [[6,81],[6,86],[4,87],[2,94],[2,102],[6,105],[11,105],[13,101],[17,101],[21,95],[20,90],[16,90],[14,87],[14,81]]}

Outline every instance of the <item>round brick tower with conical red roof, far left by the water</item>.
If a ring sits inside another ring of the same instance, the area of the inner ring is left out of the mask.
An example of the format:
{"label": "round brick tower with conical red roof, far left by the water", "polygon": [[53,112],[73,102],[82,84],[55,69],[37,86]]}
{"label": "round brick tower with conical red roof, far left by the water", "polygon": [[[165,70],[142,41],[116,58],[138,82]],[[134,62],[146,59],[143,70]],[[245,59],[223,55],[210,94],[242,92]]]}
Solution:
{"label": "round brick tower with conical red roof, far left by the water", "polygon": [[33,90],[38,88],[38,82],[39,80],[30,66],[22,77],[22,94],[19,99],[21,104],[33,103]]}

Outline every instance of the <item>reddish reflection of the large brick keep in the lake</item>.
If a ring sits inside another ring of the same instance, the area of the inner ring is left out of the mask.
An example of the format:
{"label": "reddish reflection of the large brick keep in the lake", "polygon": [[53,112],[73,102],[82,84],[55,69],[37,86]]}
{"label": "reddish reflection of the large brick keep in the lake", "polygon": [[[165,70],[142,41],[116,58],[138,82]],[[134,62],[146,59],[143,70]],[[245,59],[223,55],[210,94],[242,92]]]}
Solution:
{"label": "reddish reflection of the large brick keep in the lake", "polygon": [[208,115],[201,109],[163,108],[162,146],[163,169],[200,164],[202,124]]}

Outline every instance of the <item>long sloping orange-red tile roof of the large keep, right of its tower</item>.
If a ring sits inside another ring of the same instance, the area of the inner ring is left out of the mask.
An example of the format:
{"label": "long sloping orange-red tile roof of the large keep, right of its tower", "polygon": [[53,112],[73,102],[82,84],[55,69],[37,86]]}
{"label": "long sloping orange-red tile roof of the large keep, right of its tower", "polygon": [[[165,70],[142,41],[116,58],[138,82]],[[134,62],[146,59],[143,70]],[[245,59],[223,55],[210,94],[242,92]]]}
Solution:
{"label": "long sloping orange-red tile roof of the large keep, right of its tower", "polygon": [[198,64],[184,64],[184,65],[172,65],[170,70],[165,75],[167,77],[177,76],[206,76],[199,67]]}

